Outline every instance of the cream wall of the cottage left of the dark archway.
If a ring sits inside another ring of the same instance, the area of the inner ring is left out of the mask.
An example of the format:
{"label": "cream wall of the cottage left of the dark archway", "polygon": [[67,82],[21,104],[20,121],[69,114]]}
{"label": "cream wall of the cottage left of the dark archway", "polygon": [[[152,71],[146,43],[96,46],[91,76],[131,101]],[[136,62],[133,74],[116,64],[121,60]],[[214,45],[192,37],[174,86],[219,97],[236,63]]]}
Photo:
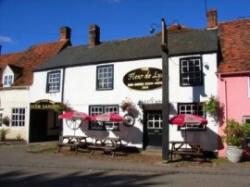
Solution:
{"label": "cream wall of the cottage left of the dark archway", "polygon": [[7,128],[8,134],[6,138],[17,139],[20,136],[28,141],[29,128],[29,90],[28,89],[11,89],[0,91],[0,108],[3,112],[3,117],[8,116],[11,120],[12,108],[25,108],[25,125],[23,127],[12,127],[11,121],[9,126],[3,125],[0,128]]}

